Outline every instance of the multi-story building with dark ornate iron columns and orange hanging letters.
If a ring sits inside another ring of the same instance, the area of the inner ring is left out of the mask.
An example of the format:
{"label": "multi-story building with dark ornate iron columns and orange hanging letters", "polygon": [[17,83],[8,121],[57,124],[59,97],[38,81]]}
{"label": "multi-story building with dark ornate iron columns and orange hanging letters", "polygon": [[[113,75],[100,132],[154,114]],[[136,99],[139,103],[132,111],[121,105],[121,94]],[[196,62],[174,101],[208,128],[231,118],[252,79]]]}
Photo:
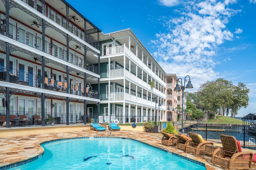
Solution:
{"label": "multi-story building with dark ornate iron columns and orange hanging letters", "polygon": [[[99,112],[100,29],[64,0],[0,1],[2,114],[82,123]],[[11,116],[13,118],[13,116]]]}

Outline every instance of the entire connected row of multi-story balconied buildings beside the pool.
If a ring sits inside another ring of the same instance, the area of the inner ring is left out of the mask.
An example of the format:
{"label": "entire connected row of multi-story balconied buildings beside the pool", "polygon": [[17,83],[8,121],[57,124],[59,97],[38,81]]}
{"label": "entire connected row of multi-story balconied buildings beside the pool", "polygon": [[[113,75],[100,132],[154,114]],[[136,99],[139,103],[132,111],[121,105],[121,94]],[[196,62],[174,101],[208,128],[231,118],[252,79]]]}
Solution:
{"label": "entire connected row of multi-story balconied buildings beside the pool", "polygon": [[130,29],[104,34],[64,0],[0,1],[6,127],[45,125],[51,116],[67,125],[99,115],[103,122],[176,121],[176,81]]}

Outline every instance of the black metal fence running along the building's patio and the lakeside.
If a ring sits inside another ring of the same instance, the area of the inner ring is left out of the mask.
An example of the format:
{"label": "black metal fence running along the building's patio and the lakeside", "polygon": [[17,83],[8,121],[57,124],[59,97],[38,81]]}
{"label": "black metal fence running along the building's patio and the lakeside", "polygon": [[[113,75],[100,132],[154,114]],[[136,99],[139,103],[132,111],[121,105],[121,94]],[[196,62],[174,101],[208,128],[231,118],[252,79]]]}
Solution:
{"label": "black metal fence running along the building's patio and the lakeside", "polygon": [[[35,116],[38,116],[36,118]],[[53,122],[51,121],[53,117]],[[136,123],[137,126],[144,126],[146,122],[152,125],[160,125],[160,130],[168,122],[155,122],[154,116],[108,116],[108,115],[91,115],[84,117],[83,114],[74,113],[45,113],[44,124],[48,125],[66,125],[66,124],[84,124],[84,123],[102,123],[108,124],[118,122],[119,125],[132,125]],[[182,132],[181,122],[169,122],[175,127],[177,131]],[[41,126],[42,113],[40,112],[22,112],[10,111],[10,127],[19,126]],[[6,126],[6,114],[0,111],[0,126]],[[203,139],[220,143],[220,135],[231,135],[240,141],[241,146],[256,150],[256,133],[252,133],[249,125],[224,125],[224,124],[206,124],[198,123],[196,121],[185,121],[183,123],[184,133],[194,132],[202,135]]]}

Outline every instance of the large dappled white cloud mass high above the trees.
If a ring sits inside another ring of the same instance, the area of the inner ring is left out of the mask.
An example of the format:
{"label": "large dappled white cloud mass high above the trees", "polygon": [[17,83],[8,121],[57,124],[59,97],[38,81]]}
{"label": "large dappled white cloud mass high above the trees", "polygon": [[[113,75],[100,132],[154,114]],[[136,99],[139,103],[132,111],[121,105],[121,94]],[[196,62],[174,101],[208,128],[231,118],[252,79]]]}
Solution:
{"label": "large dappled white cloud mass high above the trees", "polygon": [[[174,0],[160,2],[165,6],[177,3]],[[226,25],[230,17],[240,12],[229,8],[230,4],[236,2],[204,0],[196,4],[191,0],[179,4],[184,5],[182,12],[176,10],[177,17],[166,18],[163,24],[166,32],[157,33],[156,39],[151,41],[158,48],[153,57],[158,59],[166,73],[177,74],[181,78],[189,74],[194,80],[194,91],[207,80],[215,80],[220,76],[218,72],[214,72],[215,65],[220,61],[214,57],[219,45],[234,38]],[[236,32],[242,33],[242,29],[237,29]],[[230,58],[225,61],[230,61]]]}

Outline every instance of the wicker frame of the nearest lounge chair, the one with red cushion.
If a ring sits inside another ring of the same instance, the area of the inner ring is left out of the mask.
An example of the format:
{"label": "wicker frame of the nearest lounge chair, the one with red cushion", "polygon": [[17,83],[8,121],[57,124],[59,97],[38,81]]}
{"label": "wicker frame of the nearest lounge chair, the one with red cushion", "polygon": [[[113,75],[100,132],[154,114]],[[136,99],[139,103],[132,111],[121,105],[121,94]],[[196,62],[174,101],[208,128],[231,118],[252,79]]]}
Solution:
{"label": "wicker frame of the nearest lounge chair, the one with red cushion", "polygon": [[252,152],[239,152],[236,138],[220,135],[222,149],[216,149],[212,154],[212,165],[218,164],[228,169],[250,169]]}

